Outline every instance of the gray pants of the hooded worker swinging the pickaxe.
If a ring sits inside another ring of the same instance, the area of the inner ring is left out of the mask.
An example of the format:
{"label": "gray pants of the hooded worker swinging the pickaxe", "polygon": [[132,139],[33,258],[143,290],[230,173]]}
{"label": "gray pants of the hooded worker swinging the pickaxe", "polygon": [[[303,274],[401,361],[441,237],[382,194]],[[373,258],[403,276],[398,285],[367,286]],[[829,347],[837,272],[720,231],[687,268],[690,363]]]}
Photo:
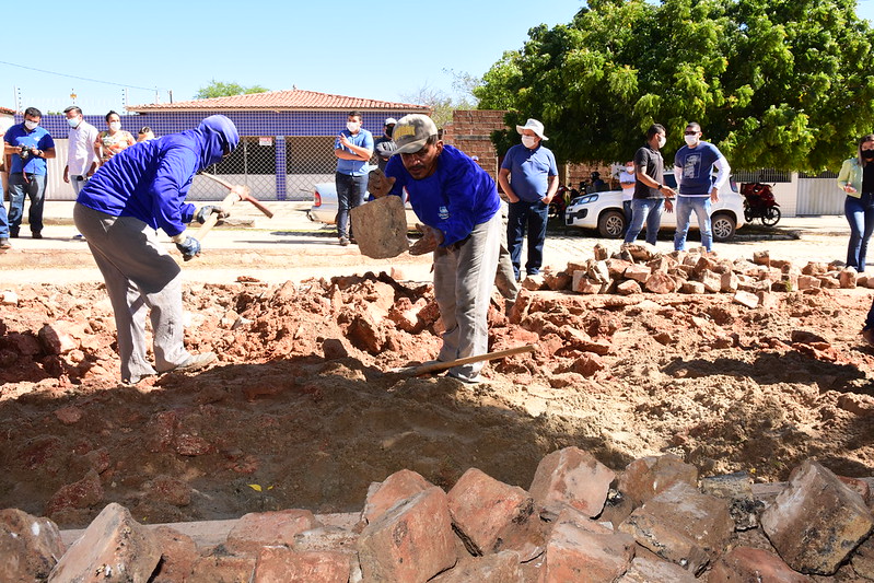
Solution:
{"label": "gray pants of the hooded worker swinging the pickaxe", "polygon": [[[118,329],[121,378],[170,371],[190,354],[183,345],[182,269],[158,233],[132,217],[113,217],[77,203],[73,221],[106,282]],[[145,313],[155,365],[145,358]]]}

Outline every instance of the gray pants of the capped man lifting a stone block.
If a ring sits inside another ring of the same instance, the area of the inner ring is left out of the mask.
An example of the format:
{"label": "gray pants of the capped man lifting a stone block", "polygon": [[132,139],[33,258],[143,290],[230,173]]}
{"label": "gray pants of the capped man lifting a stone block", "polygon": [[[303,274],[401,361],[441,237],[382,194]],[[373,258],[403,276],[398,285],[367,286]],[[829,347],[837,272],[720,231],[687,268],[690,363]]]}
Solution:
{"label": "gray pants of the capped man lifting a stone block", "polygon": [[[450,361],[489,351],[489,302],[498,269],[501,213],[474,226],[454,248],[434,250],[434,298],[446,331],[438,360]],[[475,378],[483,362],[450,369],[450,374]]]}

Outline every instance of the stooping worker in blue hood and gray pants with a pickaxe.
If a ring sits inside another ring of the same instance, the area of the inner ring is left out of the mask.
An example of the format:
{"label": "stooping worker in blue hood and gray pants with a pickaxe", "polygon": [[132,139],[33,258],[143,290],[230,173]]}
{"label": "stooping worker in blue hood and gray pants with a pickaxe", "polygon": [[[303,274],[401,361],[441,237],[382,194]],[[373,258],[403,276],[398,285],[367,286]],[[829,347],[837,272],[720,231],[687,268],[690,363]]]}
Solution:
{"label": "stooping worker in blue hood and gray pants with a pickaxe", "polygon": [[[193,218],[203,223],[221,209],[205,206],[195,217],[195,207],[185,197],[195,174],[230,154],[237,143],[233,121],[210,116],[197,129],[119,152],[77,198],[73,220],[106,281],[126,384],[168,371],[202,369],[215,360],[213,352],[185,350],[182,269],[159,241],[158,230],[172,237],[186,260],[200,253],[200,243],[186,233],[186,224]],[[154,366],[145,357],[147,312]]]}

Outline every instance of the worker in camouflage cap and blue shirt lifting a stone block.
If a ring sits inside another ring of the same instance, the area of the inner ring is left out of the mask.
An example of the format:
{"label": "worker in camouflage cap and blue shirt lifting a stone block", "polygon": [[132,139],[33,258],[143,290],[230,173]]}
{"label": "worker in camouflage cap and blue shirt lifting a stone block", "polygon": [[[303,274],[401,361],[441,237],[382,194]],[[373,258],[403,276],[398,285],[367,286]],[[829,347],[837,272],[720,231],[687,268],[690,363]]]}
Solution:
{"label": "worker in camouflage cap and blue shirt lifting a stone block", "polygon": [[[430,117],[400,118],[392,135],[397,150],[383,175],[371,173],[380,197],[406,191],[423,235],[410,254],[434,253],[434,298],[445,327],[439,361],[488,352],[488,312],[501,243],[500,198],[494,180],[476,162],[444,145]],[[448,375],[478,383],[482,362],[453,366]]]}

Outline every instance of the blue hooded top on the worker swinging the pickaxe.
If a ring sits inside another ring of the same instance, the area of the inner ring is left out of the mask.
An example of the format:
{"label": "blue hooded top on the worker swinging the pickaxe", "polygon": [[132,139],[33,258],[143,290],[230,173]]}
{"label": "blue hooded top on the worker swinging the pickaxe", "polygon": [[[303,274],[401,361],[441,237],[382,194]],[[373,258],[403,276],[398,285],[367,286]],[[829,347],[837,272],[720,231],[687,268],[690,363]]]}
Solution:
{"label": "blue hooded top on the worker swinging the pickaxe", "polygon": [[234,123],[222,115],[197,129],[140,142],[117,153],[79,193],[77,202],[113,217],[133,217],[174,236],[185,231],[195,206],[185,202],[198,171],[219,162],[240,143]]}

